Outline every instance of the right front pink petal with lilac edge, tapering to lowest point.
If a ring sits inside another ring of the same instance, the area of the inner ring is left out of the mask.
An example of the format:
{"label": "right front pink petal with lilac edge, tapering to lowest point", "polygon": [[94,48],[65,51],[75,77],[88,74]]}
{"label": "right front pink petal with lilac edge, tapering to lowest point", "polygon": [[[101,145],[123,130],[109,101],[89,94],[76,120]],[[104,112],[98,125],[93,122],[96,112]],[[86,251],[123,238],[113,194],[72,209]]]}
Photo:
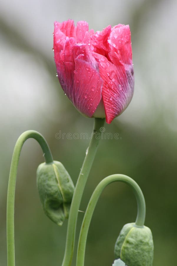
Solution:
{"label": "right front pink petal with lilac edge, tapering to lowest point", "polygon": [[102,99],[108,124],[120,115],[130,103],[134,90],[132,66],[115,66],[105,56],[94,53],[99,62],[99,72],[103,80]]}

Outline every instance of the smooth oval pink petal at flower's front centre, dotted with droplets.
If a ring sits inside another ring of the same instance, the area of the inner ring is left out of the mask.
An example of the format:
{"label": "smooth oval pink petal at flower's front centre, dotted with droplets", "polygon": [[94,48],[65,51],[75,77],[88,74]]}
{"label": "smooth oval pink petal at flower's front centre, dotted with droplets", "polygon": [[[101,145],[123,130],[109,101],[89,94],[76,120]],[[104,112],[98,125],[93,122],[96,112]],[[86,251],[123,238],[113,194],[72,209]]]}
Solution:
{"label": "smooth oval pink petal at flower's front centre, dotted with droplets", "polygon": [[102,97],[102,79],[99,72],[89,62],[84,61],[84,55],[75,59],[73,91],[76,108],[92,117]]}

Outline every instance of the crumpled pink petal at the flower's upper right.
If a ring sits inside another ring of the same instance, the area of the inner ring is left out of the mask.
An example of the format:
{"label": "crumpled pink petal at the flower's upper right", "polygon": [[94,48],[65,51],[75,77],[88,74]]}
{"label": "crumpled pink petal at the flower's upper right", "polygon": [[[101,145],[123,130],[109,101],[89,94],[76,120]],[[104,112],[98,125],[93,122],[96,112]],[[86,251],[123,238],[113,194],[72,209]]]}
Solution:
{"label": "crumpled pink petal at the flower's upper right", "polygon": [[109,57],[113,64],[132,64],[131,33],[129,25],[117,25],[108,38]]}

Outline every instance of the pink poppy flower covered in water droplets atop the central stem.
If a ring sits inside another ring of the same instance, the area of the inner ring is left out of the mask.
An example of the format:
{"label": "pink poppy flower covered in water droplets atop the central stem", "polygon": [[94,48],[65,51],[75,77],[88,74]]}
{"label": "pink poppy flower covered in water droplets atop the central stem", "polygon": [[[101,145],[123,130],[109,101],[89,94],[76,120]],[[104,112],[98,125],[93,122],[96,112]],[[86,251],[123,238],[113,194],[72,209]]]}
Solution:
{"label": "pink poppy flower covered in water droplets atop the central stem", "polygon": [[130,103],[134,90],[128,25],[102,31],[85,21],[54,23],[54,60],[59,82],[74,106],[87,117],[108,124]]}

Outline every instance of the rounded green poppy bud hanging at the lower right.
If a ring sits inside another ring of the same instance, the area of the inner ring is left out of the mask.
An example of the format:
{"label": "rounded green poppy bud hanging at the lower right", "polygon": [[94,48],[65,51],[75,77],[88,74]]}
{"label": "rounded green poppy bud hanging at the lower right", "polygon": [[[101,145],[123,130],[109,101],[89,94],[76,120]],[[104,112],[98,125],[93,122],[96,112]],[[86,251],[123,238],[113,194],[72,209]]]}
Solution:
{"label": "rounded green poppy bud hanging at the lower right", "polygon": [[115,258],[122,259],[128,266],[153,265],[153,237],[147,226],[138,227],[127,223],[120,231],[115,243]]}

